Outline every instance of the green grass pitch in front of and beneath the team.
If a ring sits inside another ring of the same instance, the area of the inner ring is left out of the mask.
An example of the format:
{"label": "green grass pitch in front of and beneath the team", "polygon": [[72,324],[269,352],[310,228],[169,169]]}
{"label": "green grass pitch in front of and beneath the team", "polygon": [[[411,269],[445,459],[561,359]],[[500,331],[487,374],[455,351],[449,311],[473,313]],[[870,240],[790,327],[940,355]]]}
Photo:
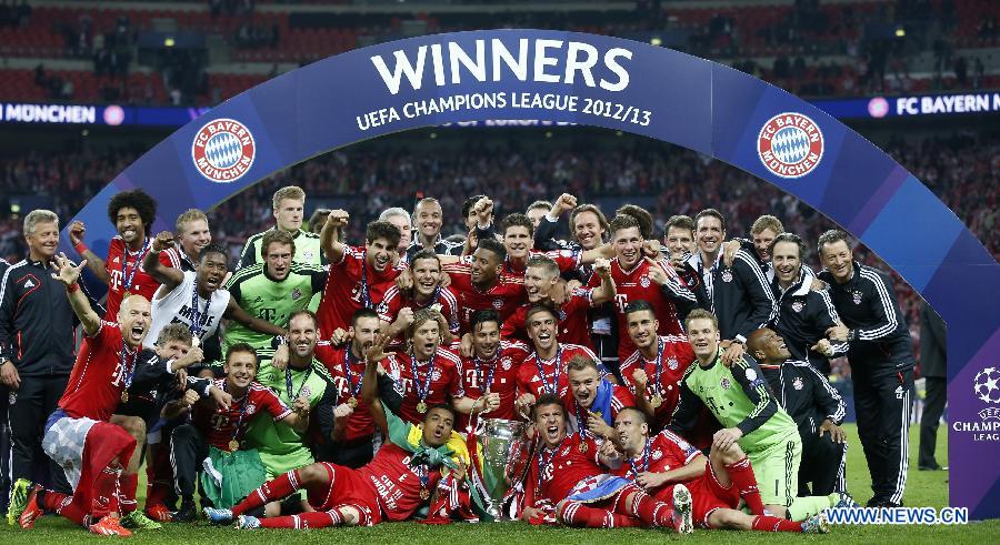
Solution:
{"label": "green grass pitch in front of and beneath the team", "polygon": [[[868,482],[868,470],[857,440],[853,425],[847,427],[851,440],[848,451],[848,483],[856,498],[864,503],[871,491]],[[907,482],[904,503],[908,506],[943,507],[948,504],[947,472],[917,471],[917,437],[919,428],[910,428],[910,474]],[[947,434],[944,430],[938,434],[938,462],[947,465]],[[144,486],[140,486],[140,491]],[[141,499],[140,499],[141,504]],[[683,537],[691,543],[722,543],[739,539],[742,543],[996,543],[1000,534],[1000,521],[972,523],[968,526],[833,526],[828,535],[801,536],[797,534],[766,534],[747,532],[737,536],[732,532],[696,531]],[[993,537],[990,537],[990,536]],[[197,525],[169,524],[162,531],[143,532],[133,535],[130,542],[136,543],[530,543],[552,544],[590,544],[601,543],[662,543],[679,539],[680,536],[666,531],[652,529],[570,529],[557,527],[532,527],[521,523],[496,524],[452,524],[449,526],[426,526],[418,523],[382,524],[371,528],[330,528],[313,531],[236,531],[232,528],[209,527],[201,522]],[[33,531],[20,531],[9,526],[0,526],[0,545],[20,543],[79,543],[80,541],[102,539],[86,531],[74,527],[68,521],[57,516],[47,516],[38,522]]]}

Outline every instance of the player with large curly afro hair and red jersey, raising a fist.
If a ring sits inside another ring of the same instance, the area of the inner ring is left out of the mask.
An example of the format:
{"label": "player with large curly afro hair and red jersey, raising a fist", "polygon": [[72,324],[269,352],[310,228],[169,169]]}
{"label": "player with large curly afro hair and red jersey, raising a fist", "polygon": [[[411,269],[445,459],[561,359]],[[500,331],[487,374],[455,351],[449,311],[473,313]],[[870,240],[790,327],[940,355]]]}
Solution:
{"label": "player with large curly afro hair and red jersey, raising a fist", "polygon": [[157,201],[142,190],[124,191],[116,194],[108,203],[108,219],[114,224],[118,234],[111,239],[107,260],[98,258],[83,243],[87,228],[81,221],[74,221],[69,229],[70,242],[94,276],[108,285],[108,301],[104,304],[104,319],[113,320],[118,315],[118,305],[122,297],[138,293],[152,300],[160,283],[149,276],[140,266],[150,248],[150,231],[157,218]]}

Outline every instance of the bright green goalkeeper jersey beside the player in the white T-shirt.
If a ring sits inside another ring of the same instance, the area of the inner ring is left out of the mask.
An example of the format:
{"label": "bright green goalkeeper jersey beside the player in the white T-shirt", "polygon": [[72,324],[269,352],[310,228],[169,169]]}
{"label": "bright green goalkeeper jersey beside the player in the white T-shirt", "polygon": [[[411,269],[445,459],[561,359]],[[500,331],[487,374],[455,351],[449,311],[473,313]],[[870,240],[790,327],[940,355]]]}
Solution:
{"label": "bright green goalkeeper jersey beside the player in the white T-shirt", "polygon": [[[284,280],[268,275],[263,263],[240,269],[229,279],[226,289],[230,296],[248,314],[280,327],[288,326],[288,316],[309,305],[314,293],[322,293],[327,272],[314,265],[292,263]],[[226,326],[222,353],[236,343],[248,343],[259,354],[271,353],[272,336],[258,333],[243,324],[231,322]]]}

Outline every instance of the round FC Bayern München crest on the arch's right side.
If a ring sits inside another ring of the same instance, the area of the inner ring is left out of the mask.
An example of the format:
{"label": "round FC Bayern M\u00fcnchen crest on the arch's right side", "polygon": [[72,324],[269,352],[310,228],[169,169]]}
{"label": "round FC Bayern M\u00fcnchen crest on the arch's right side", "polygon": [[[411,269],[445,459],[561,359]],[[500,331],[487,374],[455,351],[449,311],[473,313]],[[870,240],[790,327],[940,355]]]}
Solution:
{"label": "round FC Bayern M\u00fcnchen crest on the arch's right side", "polygon": [[779,113],[760,129],[757,154],[774,175],[802,178],[823,159],[823,132],[801,113]]}

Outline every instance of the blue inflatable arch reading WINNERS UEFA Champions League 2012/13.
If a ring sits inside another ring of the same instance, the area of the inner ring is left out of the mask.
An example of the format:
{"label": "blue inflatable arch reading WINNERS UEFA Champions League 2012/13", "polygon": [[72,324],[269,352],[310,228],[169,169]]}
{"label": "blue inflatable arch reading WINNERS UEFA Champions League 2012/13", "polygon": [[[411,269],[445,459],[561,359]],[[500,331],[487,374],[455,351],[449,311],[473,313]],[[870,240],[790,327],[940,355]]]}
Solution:
{"label": "blue inflatable arch reading WINNERS UEFA Champions League 2012/13", "polygon": [[[603,127],[726,161],[860,239],[948,323],[950,503],[1000,516],[1000,410],[973,384],[1000,352],[1000,266],[919,180],[809,103],[722,64],[628,40],[498,30],[350,51],[267,81],[179,129],[76,219],[99,254],[104,210],[142,188],[154,230],[336,148],[422,127],[496,119]],[[66,223],[67,225],[69,222]],[[68,248],[68,236],[63,236]],[[990,295],[990,294],[993,295]],[[993,411],[990,411],[993,408]],[[993,430],[991,433],[983,431]]]}

